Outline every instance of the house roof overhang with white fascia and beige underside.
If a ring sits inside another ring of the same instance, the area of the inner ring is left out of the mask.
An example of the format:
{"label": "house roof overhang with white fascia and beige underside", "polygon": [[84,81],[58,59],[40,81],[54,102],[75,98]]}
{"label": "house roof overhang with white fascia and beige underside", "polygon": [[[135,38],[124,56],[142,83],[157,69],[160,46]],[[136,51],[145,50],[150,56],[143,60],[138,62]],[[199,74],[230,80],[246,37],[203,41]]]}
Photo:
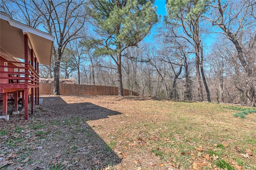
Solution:
{"label": "house roof overhang with white fascia and beige underside", "polygon": [[50,65],[54,36],[39,31],[28,25],[12,20],[8,14],[0,13],[0,54],[8,59],[24,59],[24,34],[28,35],[28,60],[30,49],[38,63]]}

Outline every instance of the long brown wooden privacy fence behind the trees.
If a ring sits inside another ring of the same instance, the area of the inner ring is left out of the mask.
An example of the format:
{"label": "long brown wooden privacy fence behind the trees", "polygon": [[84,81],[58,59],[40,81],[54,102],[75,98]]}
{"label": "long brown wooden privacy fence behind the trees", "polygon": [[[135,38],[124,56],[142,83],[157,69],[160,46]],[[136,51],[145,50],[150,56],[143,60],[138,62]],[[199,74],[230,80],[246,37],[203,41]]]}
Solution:
{"label": "long brown wooden privacy fence behind the trees", "polygon": [[[39,94],[52,94],[54,83],[39,83]],[[138,96],[137,93],[123,89],[124,96]],[[84,84],[61,84],[61,95],[118,95],[118,87],[94,86]]]}

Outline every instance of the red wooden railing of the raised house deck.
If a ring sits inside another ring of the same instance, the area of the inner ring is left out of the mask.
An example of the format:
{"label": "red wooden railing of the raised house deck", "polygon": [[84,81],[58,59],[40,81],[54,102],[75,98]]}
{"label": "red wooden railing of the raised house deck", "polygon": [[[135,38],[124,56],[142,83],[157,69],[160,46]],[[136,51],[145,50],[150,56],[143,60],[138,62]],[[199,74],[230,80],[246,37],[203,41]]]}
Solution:
{"label": "red wooden railing of the raised house deck", "polygon": [[[2,61],[1,63],[12,63],[18,66],[10,66],[7,64],[1,65],[4,70],[0,71],[0,79],[1,80],[8,80],[5,81],[6,83],[17,83],[17,84],[33,84],[39,86],[39,74],[33,68],[30,63],[18,62],[18,61]],[[9,71],[11,68],[14,71]],[[17,71],[16,71],[17,70]],[[1,82],[2,84],[2,82]]]}

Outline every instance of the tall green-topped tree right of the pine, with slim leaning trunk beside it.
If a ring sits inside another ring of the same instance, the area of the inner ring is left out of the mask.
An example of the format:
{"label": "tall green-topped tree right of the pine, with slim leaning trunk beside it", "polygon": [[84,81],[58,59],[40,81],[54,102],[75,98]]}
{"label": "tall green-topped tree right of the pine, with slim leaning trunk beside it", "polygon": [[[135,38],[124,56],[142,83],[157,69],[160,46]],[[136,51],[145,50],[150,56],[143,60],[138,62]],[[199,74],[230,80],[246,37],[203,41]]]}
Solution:
{"label": "tall green-topped tree right of the pine, with slim leaning trunk beside it", "polygon": [[207,87],[206,80],[204,79],[203,64],[203,51],[202,42],[200,39],[200,20],[207,10],[207,0],[191,0],[182,1],[177,3],[175,0],[167,1],[168,15],[165,18],[166,29],[171,32],[166,36],[172,36],[174,38],[182,38],[186,40],[192,47],[194,47],[195,53],[195,66],[196,66],[196,78],[198,88],[198,100],[203,101],[202,82],[200,76],[203,76],[204,85],[206,87],[206,94],[208,101],[210,102],[210,92]]}

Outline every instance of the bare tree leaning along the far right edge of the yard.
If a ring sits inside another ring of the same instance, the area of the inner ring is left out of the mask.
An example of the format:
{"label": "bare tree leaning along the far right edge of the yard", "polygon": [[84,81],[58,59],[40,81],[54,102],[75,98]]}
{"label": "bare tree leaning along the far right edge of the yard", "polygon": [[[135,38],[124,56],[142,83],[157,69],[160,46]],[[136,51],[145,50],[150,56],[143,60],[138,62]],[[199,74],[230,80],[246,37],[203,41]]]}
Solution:
{"label": "bare tree leaning along the far right edge of the yard", "polygon": [[[211,6],[213,8],[213,14],[208,20],[212,22],[212,25],[218,26],[222,30],[222,33],[236,47],[237,75],[241,71],[246,73],[242,75],[246,76],[246,86],[244,86],[244,89],[238,86],[237,88],[247,96],[248,104],[254,106],[256,100],[256,85],[254,80],[255,63],[252,57],[253,55],[250,55],[251,52],[249,51],[253,51],[256,46],[256,1],[238,0],[222,2],[222,0],[218,0],[216,4]],[[245,37],[246,33],[250,34],[249,41],[246,41],[246,38],[248,38]],[[241,67],[238,66],[239,64],[241,64]],[[243,70],[240,70],[240,68]]]}

